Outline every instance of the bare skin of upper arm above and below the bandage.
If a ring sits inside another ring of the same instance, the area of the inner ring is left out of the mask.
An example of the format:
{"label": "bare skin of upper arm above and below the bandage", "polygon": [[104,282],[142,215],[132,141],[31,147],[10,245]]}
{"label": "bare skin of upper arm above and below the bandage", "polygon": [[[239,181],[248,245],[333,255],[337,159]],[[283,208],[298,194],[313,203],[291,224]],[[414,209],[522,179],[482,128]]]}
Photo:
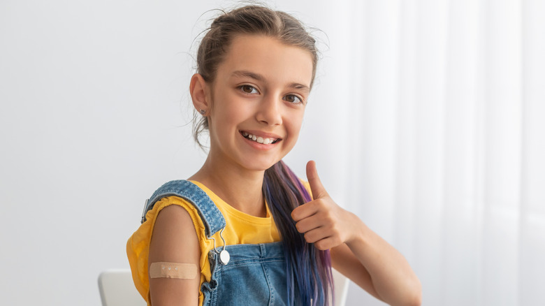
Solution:
{"label": "bare skin of upper arm above and below the bandage", "polygon": [[189,263],[196,265],[197,275],[194,279],[150,278],[153,306],[198,305],[200,257],[201,249],[189,213],[178,205],[163,208],[155,221],[148,269],[157,262]]}

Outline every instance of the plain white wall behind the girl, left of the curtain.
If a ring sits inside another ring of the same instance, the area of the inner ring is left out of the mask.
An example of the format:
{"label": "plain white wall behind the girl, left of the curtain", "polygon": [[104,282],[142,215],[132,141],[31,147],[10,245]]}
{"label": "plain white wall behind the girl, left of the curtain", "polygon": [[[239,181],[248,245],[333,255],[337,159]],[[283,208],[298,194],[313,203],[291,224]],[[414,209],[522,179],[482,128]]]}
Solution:
{"label": "plain white wall behind the girl, left of the curtain", "polygon": [[[301,176],[317,160],[342,202],[347,136],[324,138],[332,126],[319,114],[347,111],[346,93],[326,91],[349,68],[335,64],[346,40],[333,27],[347,8],[291,2],[272,5],[324,31],[330,48],[286,160]],[[145,198],[205,157],[187,125],[191,43],[213,15],[201,14],[233,3],[0,2],[1,304],[99,305],[99,272],[128,268]]]}

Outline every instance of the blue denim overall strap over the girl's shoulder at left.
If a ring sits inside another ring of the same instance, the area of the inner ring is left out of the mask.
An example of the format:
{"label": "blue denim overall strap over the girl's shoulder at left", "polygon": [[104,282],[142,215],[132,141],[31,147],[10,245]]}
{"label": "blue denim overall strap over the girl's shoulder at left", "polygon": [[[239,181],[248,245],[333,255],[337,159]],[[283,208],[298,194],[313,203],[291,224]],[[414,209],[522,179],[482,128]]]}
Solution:
{"label": "blue denim overall strap over the girl's shoulder at left", "polygon": [[153,206],[161,198],[166,196],[179,196],[184,200],[194,205],[198,214],[203,220],[206,236],[212,237],[217,231],[225,227],[225,219],[223,214],[218,210],[217,206],[212,202],[208,194],[199,188],[196,184],[187,180],[175,180],[163,184],[159,187],[152,196],[147,199],[142,213],[142,223],[146,221],[146,213],[152,210]]}

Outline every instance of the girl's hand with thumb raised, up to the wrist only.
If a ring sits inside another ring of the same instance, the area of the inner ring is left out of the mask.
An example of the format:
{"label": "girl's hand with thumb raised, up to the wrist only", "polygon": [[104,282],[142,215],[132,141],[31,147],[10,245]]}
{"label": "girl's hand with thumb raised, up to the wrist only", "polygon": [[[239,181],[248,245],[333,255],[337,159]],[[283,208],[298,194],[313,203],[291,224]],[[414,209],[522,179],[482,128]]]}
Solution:
{"label": "girl's hand with thumb raised, up to the wrist only", "polygon": [[307,180],[312,191],[312,201],[296,207],[291,218],[296,221],[299,233],[305,234],[305,240],[321,250],[330,249],[349,242],[354,238],[350,226],[358,217],[342,209],[330,198],[324,185],[321,184],[316,163],[307,163]]}

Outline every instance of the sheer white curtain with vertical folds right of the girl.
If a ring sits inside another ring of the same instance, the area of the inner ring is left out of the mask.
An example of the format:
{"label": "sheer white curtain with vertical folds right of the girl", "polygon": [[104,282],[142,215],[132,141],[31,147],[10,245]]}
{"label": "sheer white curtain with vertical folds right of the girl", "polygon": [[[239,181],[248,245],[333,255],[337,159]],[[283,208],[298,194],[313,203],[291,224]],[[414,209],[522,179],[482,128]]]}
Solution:
{"label": "sheer white curtain with vertical folds right of the girl", "polygon": [[405,254],[423,305],[545,305],[545,1],[342,7],[345,206]]}

